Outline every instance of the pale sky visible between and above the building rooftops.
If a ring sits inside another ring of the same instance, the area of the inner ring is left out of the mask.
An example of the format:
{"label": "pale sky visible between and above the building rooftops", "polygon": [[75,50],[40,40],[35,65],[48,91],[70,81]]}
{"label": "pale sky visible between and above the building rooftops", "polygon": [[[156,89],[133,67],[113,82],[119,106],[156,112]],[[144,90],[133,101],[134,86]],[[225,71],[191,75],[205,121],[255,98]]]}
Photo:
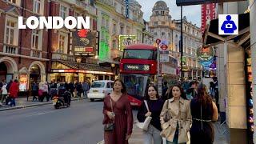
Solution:
{"label": "pale sky visible between and above the building rooftops", "polygon": [[[143,11],[143,17],[146,21],[150,21],[150,15],[152,14],[152,8],[155,2],[158,0],[136,0],[141,6]],[[180,19],[180,7],[176,6],[176,0],[162,0],[166,2],[170,10],[172,19]],[[183,16],[186,16],[188,22],[201,26],[201,5],[198,6],[183,6]]]}

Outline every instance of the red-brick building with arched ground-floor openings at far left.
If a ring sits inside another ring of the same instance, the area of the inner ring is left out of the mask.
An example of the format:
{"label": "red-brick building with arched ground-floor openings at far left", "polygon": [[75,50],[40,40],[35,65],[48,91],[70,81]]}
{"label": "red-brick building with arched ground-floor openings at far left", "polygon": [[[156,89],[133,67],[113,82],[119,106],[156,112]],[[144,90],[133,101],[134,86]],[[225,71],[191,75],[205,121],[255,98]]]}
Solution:
{"label": "red-brick building with arched ground-floor openings at far left", "polygon": [[48,31],[18,30],[18,16],[47,16],[48,1],[0,1],[0,79],[22,79],[26,88],[30,81],[46,80],[49,62]]}

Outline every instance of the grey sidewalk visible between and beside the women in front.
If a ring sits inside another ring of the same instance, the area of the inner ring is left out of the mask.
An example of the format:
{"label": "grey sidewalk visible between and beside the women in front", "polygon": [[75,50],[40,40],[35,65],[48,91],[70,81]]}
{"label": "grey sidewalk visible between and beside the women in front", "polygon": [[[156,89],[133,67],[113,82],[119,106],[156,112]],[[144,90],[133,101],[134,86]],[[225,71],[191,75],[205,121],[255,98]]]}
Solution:
{"label": "grey sidewalk visible between and beside the women in front", "polygon": [[[230,134],[226,124],[220,125],[220,122],[214,123],[214,144],[229,144],[230,143]],[[130,144],[143,144],[143,132],[137,126],[134,125],[133,134],[129,140]],[[190,142],[187,142],[190,144]]]}

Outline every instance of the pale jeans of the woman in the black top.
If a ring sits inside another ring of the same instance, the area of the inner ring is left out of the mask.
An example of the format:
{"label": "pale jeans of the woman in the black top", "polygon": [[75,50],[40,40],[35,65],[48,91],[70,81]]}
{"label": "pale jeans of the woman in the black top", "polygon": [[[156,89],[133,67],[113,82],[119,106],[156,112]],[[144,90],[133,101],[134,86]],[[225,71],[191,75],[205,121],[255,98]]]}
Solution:
{"label": "pale jeans of the woman in the black top", "polygon": [[162,137],[160,136],[160,132],[157,128],[152,125],[149,125],[147,131],[144,131],[144,144],[152,144],[152,139],[154,144],[162,144]]}

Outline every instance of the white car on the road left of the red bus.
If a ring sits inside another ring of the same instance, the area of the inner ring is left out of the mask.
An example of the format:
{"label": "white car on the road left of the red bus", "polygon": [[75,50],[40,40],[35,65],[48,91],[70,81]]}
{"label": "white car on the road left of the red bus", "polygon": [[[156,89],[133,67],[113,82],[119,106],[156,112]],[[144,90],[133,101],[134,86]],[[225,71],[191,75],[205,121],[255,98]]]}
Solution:
{"label": "white car on the road left of the red bus", "polygon": [[94,99],[104,99],[107,94],[113,91],[113,85],[114,81],[110,80],[94,81],[87,96],[91,102],[94,102]]}

